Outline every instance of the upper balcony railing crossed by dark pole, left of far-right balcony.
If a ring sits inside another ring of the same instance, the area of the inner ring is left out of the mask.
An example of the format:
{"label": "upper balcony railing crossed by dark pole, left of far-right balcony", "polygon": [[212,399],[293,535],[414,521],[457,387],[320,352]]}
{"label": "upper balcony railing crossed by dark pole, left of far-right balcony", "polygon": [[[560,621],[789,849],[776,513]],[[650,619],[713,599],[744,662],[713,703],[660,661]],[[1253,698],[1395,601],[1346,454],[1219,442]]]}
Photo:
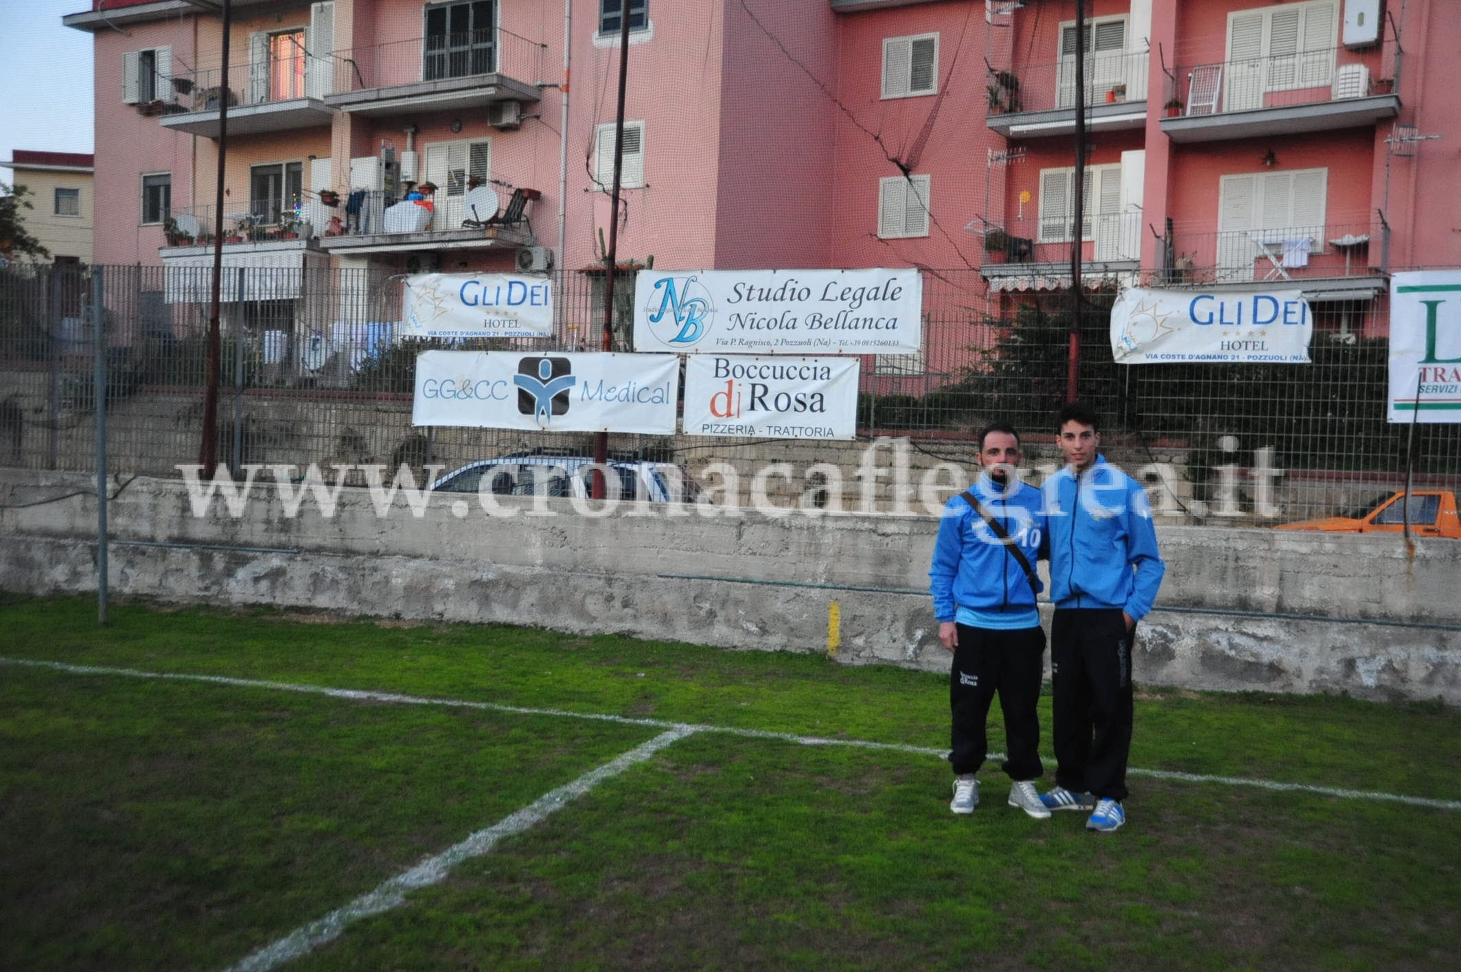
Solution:
{"label": "upper balcony railing crossed by dark pole, left of far-right balcony", "polygon": [[[1147,99],[1150,57],[1141,53],[1086,57],[1086,104],[1121,104]],[[986,80],[989,114],[1061,111],[1075,108],[1075,58],[1055,64],[1029,64],[995,72]]]}

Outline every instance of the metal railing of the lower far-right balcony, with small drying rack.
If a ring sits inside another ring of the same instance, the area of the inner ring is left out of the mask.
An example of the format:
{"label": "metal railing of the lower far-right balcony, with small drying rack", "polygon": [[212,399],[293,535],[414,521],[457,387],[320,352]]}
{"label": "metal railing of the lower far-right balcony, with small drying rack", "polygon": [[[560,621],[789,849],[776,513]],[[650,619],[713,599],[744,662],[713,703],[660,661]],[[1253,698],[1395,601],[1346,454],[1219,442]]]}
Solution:
{"label": "metal railing of the lower far-right balcony, with small drying rack", "polygon": [[1327,222],[1264,229],[1173,228],[1172,284],[1281,284],[1290,279],[1375,276],[1384,222]]}

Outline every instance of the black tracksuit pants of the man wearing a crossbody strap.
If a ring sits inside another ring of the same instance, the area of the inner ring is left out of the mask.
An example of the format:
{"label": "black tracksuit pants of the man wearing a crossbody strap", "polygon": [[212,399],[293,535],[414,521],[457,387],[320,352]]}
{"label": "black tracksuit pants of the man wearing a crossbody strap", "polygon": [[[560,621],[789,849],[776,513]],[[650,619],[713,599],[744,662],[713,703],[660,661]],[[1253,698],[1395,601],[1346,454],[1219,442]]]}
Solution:
{"label": "black tracksuit pants of the man wearing a crossbody strap", "polygon": [[1010,750],[1004,772],[1010,779],[1036,779],[1040,764],[1040,719],[1036,703],[1045,674],[1045,630],[1039,626],[1014,631],[958,626],[958,648],[948,675],[953,709],[953,753],[955,773],[973,773],[988,748],[985,721],[989,703],[999,693]]}

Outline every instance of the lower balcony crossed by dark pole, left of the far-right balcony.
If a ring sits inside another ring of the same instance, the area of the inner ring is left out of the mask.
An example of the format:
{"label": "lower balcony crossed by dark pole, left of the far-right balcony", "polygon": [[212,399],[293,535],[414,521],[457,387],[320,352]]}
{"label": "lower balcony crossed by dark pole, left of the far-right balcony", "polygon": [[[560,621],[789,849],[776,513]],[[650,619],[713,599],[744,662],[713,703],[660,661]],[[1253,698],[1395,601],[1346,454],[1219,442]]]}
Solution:
{"label": "lower balcony crossed by dark pole, left of the far-right balcony", "polygon": [[[1096,213],[1088,221],[1090,229],[1081,243],[1081,282],[1088,288],[1135,282],[1141,262],[1141,212]],[[991,291],[1069,289],[1069,221],[1036,219],[1030,231],[1049,243],[1014,235],[1018,228],[1008,232],[996,227],[985,229],[985,265],[979,273]]]}

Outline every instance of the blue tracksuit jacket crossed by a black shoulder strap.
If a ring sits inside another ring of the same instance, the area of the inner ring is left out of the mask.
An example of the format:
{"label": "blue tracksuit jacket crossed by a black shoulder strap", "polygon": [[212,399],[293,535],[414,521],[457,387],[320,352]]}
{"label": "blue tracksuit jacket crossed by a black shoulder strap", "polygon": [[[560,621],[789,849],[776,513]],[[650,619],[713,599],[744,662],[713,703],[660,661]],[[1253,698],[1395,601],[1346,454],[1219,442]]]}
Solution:
{"label": "blue tracksuit jacket crossed by a black shoulder strap", "polygon": [[[1021,482],[1012,497],[1005,497],[1002,487],[988,475],[979,476],[970,490],[1020,545],[1033,567],[1036,557],[1045,555],[1046,545],[1040,491]],[[1034,592],[1020,564],[963,497],[955,496],[944,504],[928,577],[934,615],[939,621],[953,621],[960,605],[986,611],[1034,607]]]}

